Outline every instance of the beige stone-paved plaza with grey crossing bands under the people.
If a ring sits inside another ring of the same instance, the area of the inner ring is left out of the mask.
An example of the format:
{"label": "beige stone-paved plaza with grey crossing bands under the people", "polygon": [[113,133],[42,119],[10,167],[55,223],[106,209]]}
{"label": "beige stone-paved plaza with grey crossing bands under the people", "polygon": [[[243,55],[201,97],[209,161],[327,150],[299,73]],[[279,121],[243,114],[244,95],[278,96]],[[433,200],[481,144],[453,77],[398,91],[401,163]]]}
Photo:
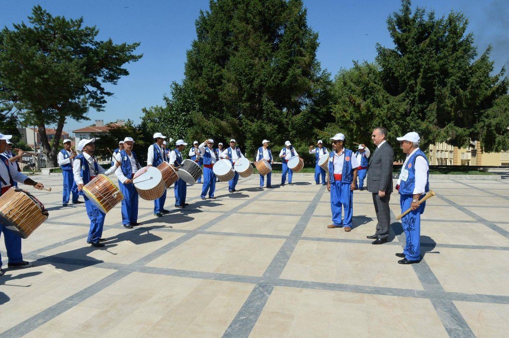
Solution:
{"label": "beige stone-paved plaza with grey crossing bands under the people", "polygon": [[[280,175],[273,175],[274,183]],[[23,240],[28,269],[0,277],[0,337],[507,337],[509,180],[433,179],[420,264],[400,265],[399,196],[390,242],[372,245],[371,193],[354,193],[353,230],[327,229],[329,193],[313,177],[215,200],[168,190],[167,216],[139,200],[124,229],[106,215],[105,248],[86,243],[84,204],[62,207],[62,178],[38,176],[49,219]],[[30,191],[33,191],[29,187]],[[7,268],[3,239],[0,250]]]}

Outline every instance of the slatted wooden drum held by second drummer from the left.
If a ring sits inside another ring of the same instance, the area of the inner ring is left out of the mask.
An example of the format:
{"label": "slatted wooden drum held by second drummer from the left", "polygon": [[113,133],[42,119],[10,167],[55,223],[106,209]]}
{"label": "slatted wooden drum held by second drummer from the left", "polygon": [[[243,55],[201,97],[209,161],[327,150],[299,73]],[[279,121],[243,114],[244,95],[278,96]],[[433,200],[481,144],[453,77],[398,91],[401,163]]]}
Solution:
{"label": "slatted wooden drum held by second drummer from the left", "polygon": [[111,210],[124,199],[124,195],[122,195],[119,188],[103,174],[97,175],[84,185],[83,194],[104,213]]}

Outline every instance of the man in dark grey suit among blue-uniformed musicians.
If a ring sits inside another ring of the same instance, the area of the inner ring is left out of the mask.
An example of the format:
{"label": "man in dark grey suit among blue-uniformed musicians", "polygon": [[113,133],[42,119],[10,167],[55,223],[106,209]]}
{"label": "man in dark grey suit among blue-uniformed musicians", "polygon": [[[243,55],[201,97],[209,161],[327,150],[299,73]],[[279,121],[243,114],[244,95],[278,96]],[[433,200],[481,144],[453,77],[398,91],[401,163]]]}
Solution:
{"label": "man in dark grey suit among blue-uniformed musicians", "polygon": [[387,143],[387,129],[378,127],[371,135],[377,146],[370,157],[367,169],[367,191],[373,194],[373,204],[377,213],[377,231],[367,238],[375,239],[372,244],[383,244],[389,237],[390,210],[389,200],[392,193],[392,162],[394,151]]}

